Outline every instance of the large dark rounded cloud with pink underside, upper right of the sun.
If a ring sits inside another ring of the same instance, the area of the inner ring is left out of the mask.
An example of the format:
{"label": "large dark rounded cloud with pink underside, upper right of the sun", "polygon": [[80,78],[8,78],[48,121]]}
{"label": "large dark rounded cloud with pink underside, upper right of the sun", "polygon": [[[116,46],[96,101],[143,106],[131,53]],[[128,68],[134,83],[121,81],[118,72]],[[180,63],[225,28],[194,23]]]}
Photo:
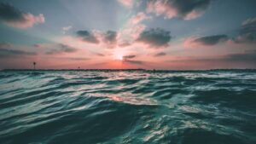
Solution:
{"label": "large dark rounded cloud with pink underside, upper right of the sun", "polygon": [[137,42],[148,44],[150,48],[164,48],[171,41],[171,32],[160,28],[143,31],[137,38]]}

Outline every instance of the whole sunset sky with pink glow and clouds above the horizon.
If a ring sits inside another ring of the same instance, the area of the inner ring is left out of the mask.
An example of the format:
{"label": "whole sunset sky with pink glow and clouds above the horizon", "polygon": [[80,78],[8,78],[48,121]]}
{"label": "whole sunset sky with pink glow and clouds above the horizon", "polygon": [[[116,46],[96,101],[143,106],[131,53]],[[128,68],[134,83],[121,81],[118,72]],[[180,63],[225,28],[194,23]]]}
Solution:
{"label": "whole sunset sky with pink glow and clouds above the horizon", "polygon": [[255,0],[0,0],[0,69],[256,68]]}

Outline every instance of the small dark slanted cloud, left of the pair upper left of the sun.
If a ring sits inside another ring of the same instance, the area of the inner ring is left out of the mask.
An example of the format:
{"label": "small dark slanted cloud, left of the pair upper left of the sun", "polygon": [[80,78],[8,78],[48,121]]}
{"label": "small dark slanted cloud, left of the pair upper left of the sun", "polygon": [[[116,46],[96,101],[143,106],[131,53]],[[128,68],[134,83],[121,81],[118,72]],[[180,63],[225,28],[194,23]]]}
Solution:
{"label": "small dark slanted cloud, left of the pair upper left of the sun", "polygon": [[89,31],[78,31],[77,35],[78,37],[81,37],[84,42],[99,43],[99,40],[96,38],[96,36]]}

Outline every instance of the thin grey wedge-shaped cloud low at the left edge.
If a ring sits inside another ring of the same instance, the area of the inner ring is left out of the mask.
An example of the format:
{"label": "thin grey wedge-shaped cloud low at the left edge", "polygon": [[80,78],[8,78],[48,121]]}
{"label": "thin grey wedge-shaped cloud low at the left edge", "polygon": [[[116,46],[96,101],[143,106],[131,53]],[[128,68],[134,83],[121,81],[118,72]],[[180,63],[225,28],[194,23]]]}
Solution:
{"label": "thin grey wedge-shaped cloud low at the left edge", "polygon": [[37,53],[34,52],[27,52],[23,50],[18,49],[0,49],[0,57],[14,57],[14,56],[32,56],[37,55]]}

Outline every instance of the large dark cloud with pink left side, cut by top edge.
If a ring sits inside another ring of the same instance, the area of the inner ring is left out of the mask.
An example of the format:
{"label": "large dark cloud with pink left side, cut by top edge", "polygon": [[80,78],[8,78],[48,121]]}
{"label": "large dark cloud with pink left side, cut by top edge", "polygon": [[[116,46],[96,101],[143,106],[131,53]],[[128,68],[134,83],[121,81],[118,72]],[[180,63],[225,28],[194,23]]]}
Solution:
{"label": "large dark cloud with pink left side, cut by top edge", "polygon": [[204,14],[211,0],[148,0],[147,12],[164,15],[166,19],[195,19]]}

